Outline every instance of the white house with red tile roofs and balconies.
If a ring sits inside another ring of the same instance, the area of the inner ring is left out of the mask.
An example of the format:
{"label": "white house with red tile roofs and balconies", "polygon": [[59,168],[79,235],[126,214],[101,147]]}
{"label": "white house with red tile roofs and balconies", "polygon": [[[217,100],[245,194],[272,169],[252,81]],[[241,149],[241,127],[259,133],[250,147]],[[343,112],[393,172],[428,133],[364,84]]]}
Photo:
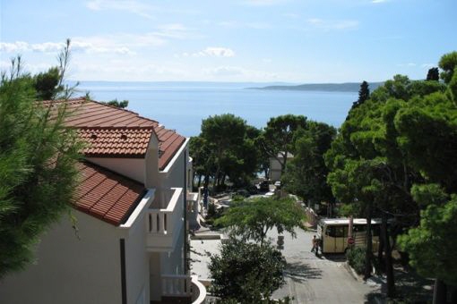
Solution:
{"label": "white house with red tile roofs and balconies", "polygon": [[0,282],[1,303],[203,302],[189,274],[188,139],[134,112],[74,98],[65,123],[88,145],[74,208],[37,261]]}

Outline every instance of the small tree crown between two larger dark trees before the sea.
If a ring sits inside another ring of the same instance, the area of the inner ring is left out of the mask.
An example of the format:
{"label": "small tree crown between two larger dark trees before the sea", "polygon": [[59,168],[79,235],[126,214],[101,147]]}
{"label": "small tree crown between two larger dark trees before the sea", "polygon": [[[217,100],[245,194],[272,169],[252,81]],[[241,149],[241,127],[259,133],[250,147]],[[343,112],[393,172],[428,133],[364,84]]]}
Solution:
{"label": "small tree crown between two larger dark trees before the sea", "polygon": [[305,128],[306,117],[303,115],[287,114],[272,117],[256,143],[263,148],[263,153],[278,160],[281,171],[284,172],[287,156],[289,152],[294,152],[295,132]]}

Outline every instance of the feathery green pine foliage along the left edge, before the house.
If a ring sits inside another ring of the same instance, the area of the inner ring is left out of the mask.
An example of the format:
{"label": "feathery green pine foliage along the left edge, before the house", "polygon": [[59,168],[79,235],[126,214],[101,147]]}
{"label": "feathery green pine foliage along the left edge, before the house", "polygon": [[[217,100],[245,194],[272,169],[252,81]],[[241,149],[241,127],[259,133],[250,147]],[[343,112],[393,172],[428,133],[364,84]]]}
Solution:
{"label": "feathery green pine foliage along the left edge, before the house", "polygon": [[32,262],[39,236],[68,210],[82,148],[65,103],[36,102],[30,75],[12,71],[0,84],[0,278]]}

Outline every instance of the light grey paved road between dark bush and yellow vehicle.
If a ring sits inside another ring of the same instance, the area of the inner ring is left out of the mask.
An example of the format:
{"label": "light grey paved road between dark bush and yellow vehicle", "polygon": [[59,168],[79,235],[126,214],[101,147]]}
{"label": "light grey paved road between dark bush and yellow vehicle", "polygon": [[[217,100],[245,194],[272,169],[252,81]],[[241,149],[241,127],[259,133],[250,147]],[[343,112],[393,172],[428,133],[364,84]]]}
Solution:
{"label": "light grey paved road between dark bush and yellow vehicle", "polygon": [[[286,284],[273,298],[293,297],[293,303],[369,303],[366,300],[375,287],[359,282],[345,267],[343,256],[316,258],[311,253],[315,233],[297,230],[297,239],[284,235],[282,250],[288,262]],[[270,233],[276,240],[277,233]]]}

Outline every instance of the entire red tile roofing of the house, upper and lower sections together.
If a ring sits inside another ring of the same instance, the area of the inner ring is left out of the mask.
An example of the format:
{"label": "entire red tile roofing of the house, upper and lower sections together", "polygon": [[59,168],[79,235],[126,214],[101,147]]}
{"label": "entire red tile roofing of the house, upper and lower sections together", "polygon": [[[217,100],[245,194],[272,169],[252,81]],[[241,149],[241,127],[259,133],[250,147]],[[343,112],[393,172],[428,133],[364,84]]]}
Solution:
{"label": "entire red tile roofing of the house, upper and lower sections together", "polygon": [[[65,124],[75,128],[88,143],[85,156],[144,157],[155,133],[159,139],[159,168],[163,170],[185,142],[176,131],[132,111],[84,98],[43,101],[44,106],[64,103],[70,113]],[[78,164],[78,168],[82,181],[76,190],[75,207],[110,224],[123,224],[144,196],[142,183],[87,162]]]}

